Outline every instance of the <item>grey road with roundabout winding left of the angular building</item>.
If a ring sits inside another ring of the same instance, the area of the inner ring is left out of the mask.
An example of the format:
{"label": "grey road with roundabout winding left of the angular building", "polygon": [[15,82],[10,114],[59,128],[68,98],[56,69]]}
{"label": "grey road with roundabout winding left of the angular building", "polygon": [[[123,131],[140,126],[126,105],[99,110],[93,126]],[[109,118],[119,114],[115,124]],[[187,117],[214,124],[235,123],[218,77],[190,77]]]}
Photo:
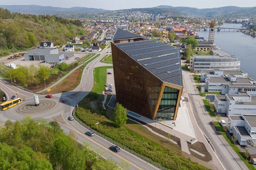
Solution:
{"label": "grey road with roundabout winding left of the angular building", "polygon": [[[16,95],[22,99],[25,98],[25,100],[19,106],[9,108],[6,111],[1,111],[2,113],[0,114],[0,123],[3,124],[8,119],[12,121],[20,121],[26,115],[31,116],[35,120],[38,118],[43,118],[48,121],[52,121],[53,118],[60,122],[59,124],[61,125],[61,128],[64,129],[66,133],[73,131],[73,133],[75,133],[78,137],[78,142],[89,143],[92,150],[96,151],[96,153],[99,153],[106,159],[112,159],[119,165],[125,162],[130,170],[158,170],[159,168],[154,167],[154,165],[149,164],[139,157],[125,151],[122,149],[122,147],[119,153],[112,152],[108,149],[108,147],[113,145],[113,143],[108,142],[107,140],[97,135],[88,137],[84,135],[84,132],[87,131],[85,127],[81,126],[76,121],[67,120],[68,116],[71,116],[73,108],[76,106],[76,104],[81,99],[83,99],[84,96],[86,96],[93,88],[93,68],[110,65],[99,62],[100,59],[102,59],[102,57],[107,54],[107,51],[111,51],[111,48],[105,48],[100,53],[101,55],[99,57],[87,65],[90,68],[84,69],[81,82],[73,91],[68,91],[61,94],[53,94],[51,99],[45,98],[45,94],[38,94],[40,101],[40,105],[38,107],[31,106],[34,104],[33,93],[23,91],[20,88],[17,88],[0,78],[0,88],[5,91],[8,99],[10,99],[12,95]],[[51,86],[47,88],[51,88]],[[65,103],[61,102],[61,99],[63,98],[66,99]],[[41,110],[42,108],[44,110]]]}

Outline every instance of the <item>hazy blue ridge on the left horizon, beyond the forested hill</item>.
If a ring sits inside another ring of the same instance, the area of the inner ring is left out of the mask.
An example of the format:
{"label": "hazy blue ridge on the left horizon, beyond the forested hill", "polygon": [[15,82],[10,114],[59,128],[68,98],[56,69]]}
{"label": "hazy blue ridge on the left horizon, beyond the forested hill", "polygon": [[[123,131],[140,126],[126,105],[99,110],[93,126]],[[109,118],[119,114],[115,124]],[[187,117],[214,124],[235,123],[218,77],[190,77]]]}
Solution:
{"label": "hazy blue ridge on the left horizon, beyond the forested hill", "polygon": [[18,12],[20,14],[91,14],[108,11],[105,9],[86,7],[61,8],[38,5],[0,5],[0,7],[8,9],[10,12]]}

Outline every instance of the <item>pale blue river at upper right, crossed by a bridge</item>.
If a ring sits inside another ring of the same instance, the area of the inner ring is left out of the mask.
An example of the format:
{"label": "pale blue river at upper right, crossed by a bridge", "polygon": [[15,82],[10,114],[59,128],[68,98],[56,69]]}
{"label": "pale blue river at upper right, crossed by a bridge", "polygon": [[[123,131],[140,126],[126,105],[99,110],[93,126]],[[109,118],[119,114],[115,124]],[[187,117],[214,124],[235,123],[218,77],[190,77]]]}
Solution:
{"label": "pale blue river at upper right, crossed by a bridge", "polygon": [[[240,28],[241,24],[224,23],[223,28]],[[218,26],[216,26],[218,27]],[[199,37],[204,37],[208,40],[209,28],[207,31],[197,30]],[[256,80],[256,37],[244,34],[242,32],[221,29],[215,29],[214,44],[221,50],[235,55],[241,61],[240,70],[248,73],[248,76]]]}

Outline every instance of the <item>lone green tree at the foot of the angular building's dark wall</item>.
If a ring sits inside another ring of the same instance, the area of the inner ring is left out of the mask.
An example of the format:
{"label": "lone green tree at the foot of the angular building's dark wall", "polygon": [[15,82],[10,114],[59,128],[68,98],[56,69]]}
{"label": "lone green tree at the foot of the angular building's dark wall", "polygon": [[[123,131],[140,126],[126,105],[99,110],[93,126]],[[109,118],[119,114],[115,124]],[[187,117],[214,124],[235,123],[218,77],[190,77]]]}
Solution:
{"label": "lone green tree at the foot of the angular building's dark wall", "polygon": [[125,125],[127,121],[127,115],[126,115],[126,108],[122,106],[122,104],[116,103],[116,107],[113,109],[112,112],[114,116],[114,122],[117,127],[121,127],[122,125]]}

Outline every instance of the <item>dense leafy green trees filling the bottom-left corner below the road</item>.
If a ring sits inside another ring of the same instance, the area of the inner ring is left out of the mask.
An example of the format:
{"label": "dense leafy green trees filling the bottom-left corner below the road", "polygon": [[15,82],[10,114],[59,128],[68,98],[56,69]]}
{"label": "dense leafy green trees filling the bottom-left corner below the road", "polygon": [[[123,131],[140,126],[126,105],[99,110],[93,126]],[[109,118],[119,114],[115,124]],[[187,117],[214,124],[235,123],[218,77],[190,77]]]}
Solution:
{"label": "dense leafy green trees filling the bottom-left corner below the road", "polygon": [[[76,136],[66,135],[57,122],[26,116],[21,122],[7,120],[0,127],[1,170],[119,170],[112,161],[101,159]],[[104,167],[104,168],[102,168]]]}

